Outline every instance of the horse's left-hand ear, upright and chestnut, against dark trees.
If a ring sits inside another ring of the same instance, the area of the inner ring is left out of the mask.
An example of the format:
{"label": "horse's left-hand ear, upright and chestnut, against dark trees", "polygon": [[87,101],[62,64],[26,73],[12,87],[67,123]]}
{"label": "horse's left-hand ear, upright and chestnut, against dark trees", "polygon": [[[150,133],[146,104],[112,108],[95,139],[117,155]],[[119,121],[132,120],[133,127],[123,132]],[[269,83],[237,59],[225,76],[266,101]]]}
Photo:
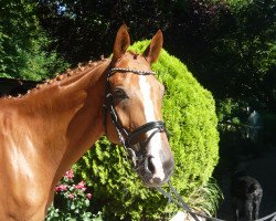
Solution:
{"label": "horse's left-hand ear, upright and chestnut, against dark trees", "polygon": [[121,57],[121,55],[127,51],[129,44],[130,38],[127,31],[127,25],[123,24],[117,32],[113,49],[113,56],[115,61]]}

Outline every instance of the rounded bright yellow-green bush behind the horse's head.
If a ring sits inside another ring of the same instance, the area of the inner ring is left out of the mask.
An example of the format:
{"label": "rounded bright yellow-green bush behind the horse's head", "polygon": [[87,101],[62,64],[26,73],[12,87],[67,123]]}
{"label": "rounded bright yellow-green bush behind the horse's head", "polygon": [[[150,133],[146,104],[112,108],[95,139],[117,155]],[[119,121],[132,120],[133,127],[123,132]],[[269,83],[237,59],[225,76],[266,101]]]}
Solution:
{"label": "rounded bright yellow-green bush behind the horse's head", "polygon": [[[141,53],[148,44],[149,41],[138,42],[130,50]],[[190,197],[208,182],[219,159],[214,101],[187,67],[164,50],[152,70],[167,88],[163,118],[176,160],[172,183],[193,206],[197,199]],[[76,170],[94,191],[94,212],[102,210],[106,220],[170,217],[177,208],[145,187],[125,156],[121,147],[110,146],[102,138],[78,161]]]}

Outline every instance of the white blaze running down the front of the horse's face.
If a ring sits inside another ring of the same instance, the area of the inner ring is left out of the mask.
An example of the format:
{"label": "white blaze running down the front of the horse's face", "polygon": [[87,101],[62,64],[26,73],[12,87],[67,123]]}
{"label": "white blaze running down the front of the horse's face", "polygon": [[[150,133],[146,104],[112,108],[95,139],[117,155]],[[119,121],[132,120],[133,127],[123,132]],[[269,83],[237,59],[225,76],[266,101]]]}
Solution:
{"label": "white blaze running down the front of the horse's face", "polygon": [[[150,91],[150,83],[147,81],[147,77],[139,76],[139,86],[141,91],[141,96],[144,99],[144,107],[145,107],[145,116],[147,123],[158,120],[155,116],[155,108],[151,101],[151,91]],[[152,130],[147,133],[148,136]],[[161,180],[164,179],[164,172],[162,168],[162,162],[159,157],[159,152],[161,151],[161,135],[157,133],[149,141],[149,155],[153,156],[151,158],[152,164],[155,165],[156,171],[152,178],[160,178]]]}

